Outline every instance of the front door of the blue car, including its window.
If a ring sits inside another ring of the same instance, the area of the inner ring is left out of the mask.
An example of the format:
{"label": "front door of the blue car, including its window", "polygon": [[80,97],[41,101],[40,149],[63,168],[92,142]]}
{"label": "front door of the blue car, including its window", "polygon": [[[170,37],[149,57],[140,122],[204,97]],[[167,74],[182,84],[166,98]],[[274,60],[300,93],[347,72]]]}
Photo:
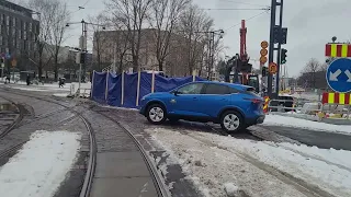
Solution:
{"label": "front door of the blue car, including its window", "polygon": [[202,116],[199,112],[199,100],[204,83],[190,83],[179,88],[169,101],[168,113],[181,116]]}

